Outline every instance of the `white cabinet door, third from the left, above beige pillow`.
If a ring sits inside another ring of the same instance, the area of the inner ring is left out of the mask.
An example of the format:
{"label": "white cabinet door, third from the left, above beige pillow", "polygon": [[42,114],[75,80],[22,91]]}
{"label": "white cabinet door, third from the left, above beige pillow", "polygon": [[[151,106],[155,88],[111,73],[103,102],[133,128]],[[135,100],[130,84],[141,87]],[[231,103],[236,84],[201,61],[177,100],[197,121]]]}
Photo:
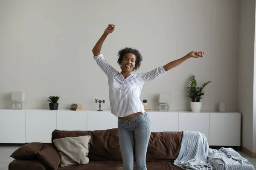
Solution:
{"label": "white cabinet door, third from the left, above beige pillow", "polygon": [[57,111],[58,130],[87,130],[86,111]]}

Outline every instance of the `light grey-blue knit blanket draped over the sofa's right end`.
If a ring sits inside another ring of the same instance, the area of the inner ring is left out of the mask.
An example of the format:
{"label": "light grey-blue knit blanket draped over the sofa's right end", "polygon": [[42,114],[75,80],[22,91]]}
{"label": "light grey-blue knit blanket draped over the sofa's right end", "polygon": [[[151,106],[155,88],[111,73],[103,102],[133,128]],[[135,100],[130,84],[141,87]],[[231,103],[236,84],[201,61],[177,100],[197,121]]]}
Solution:
{"label": "light grey-blue knit blanket draped over the sofa's right end", "polygon": [[180,152],[174,164],[186,170],[255,170],[232,148],[210,149],[200,132],[183,132]]}

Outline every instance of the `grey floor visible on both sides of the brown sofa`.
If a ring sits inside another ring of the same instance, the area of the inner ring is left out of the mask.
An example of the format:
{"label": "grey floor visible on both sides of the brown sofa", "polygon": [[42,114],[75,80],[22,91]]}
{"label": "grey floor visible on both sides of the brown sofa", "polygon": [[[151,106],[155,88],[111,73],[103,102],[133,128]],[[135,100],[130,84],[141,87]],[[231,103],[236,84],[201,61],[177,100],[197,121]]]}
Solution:
{"label": "grey floor visible on both sides of the brown sofa", "polygon": [[[8,170],[9,163],[13,160],[10,155],[20,147],[19,145],[0,145],[0,170]],[[250,158],[245,153],[239,151],[241,156],[247,159],[256,169],[256,159]]]}

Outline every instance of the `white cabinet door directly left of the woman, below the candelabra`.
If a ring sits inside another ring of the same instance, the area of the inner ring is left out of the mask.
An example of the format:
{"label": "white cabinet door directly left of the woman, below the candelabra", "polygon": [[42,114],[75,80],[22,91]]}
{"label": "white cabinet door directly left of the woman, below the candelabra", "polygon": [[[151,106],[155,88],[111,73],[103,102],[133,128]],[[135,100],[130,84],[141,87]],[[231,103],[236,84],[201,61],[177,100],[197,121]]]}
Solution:
{"label": "white cabinet door directly left of the woman, below the candelabra", "polygon": [[118,118],[111,112],[87,112],[87,130],[106,130],[117,128]]}

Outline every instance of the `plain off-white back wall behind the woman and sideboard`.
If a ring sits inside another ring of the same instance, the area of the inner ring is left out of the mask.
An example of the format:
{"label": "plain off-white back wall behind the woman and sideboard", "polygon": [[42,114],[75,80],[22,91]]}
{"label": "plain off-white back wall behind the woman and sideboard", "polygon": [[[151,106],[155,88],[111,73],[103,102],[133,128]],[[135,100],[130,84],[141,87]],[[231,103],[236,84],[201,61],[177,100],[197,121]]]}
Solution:
{"label": "plain off-white back wall behind the woman and sideboard", "polygon": [[171,109],[189,110],[186,87],[194,74],[199,85],[212,81],[202,110],[215,110],[224,101],[227,111],[236,111],[238,18],[239,0],[0,1],[0,108],[10,107],[11,91],[24,91],[25,108],[48,108],[47,97],[58,95],[60,108],[79,102],[96,109],[94,98],[105,97],[102,108],[110,109],[107,78],[91,50],[112,23],[116,31],[102,53],[116,69],[116,53],[126,46],[144,57],[138,72],[193,50],[206,51],[203,59],[189,59],[145,84],[141,99],[148,99],[153,109],[158,109],[158,93],[172,93]]}

